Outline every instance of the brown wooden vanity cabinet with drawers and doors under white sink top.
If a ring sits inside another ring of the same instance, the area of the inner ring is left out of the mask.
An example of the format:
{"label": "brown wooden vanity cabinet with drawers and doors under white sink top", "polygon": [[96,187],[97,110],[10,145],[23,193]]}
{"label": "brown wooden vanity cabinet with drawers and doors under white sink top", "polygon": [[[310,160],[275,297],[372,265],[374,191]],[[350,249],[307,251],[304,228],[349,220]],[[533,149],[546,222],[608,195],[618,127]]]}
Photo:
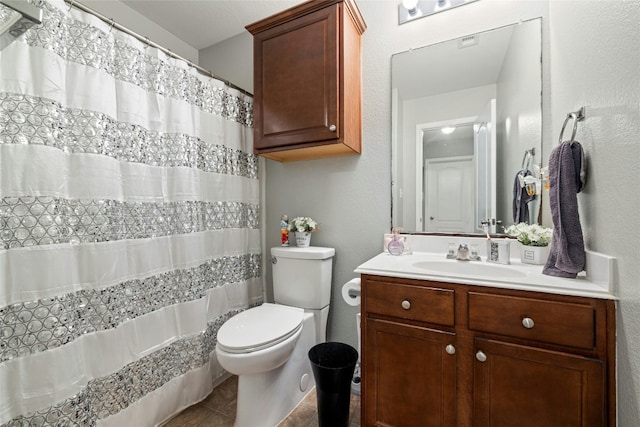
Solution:
{"label": "brown wooden vanity cabinet with drawers and doors under white sink top", "polygon": [[615,426],[611,300],[362,275],[363,426]]}

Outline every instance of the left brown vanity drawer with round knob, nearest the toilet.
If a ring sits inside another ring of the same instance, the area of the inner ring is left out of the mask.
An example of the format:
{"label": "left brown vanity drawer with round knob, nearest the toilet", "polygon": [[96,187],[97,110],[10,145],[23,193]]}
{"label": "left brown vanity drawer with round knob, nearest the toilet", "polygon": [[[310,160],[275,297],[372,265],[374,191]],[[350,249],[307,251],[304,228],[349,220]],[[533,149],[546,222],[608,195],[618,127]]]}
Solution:
{"label": "left brown vanity drawer with round knob, nearest the toilet", "polygon": [[367,313],[454,326],[454,291],[451,289],[366,282]]}

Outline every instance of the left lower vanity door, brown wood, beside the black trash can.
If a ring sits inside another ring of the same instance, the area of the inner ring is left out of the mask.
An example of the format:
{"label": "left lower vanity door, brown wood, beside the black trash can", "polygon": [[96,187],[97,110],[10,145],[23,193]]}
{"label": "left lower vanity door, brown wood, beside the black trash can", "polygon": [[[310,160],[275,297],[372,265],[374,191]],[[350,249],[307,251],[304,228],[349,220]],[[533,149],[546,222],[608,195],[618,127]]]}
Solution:
{"label": "left lower vanity door, brown wood, beside the black trash can", "polygon": [[455,335],[366,322],[363,425],[455,426]]}

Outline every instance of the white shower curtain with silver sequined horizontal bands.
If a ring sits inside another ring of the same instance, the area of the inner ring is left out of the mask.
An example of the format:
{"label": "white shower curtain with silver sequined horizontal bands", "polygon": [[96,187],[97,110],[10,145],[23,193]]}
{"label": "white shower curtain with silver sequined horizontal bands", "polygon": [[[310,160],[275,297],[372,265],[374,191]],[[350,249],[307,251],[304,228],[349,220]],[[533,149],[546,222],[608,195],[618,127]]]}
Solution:
{"label": "white shower curtain with silver sequined horizontal bands", "polygon": [[0,425],[155,425],[262,302],[252,99],[37,4],[0,52]]}

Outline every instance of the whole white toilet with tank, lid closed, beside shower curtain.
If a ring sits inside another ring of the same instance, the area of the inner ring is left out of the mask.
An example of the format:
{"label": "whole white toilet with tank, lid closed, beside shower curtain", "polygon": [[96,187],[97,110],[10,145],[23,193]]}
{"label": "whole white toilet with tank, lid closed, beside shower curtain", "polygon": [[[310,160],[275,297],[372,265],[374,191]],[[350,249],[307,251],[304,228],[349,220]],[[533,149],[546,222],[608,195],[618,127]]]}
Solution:
{"label": "whole white toilet with tank, lid closed, beside shower curtain", "polygon": [[295,409],[315,383],[311,347],[326,340],[335,249],[271,249],[274,303],[227,320],[216,356],[238,375],[235,427],[272,427]]}

